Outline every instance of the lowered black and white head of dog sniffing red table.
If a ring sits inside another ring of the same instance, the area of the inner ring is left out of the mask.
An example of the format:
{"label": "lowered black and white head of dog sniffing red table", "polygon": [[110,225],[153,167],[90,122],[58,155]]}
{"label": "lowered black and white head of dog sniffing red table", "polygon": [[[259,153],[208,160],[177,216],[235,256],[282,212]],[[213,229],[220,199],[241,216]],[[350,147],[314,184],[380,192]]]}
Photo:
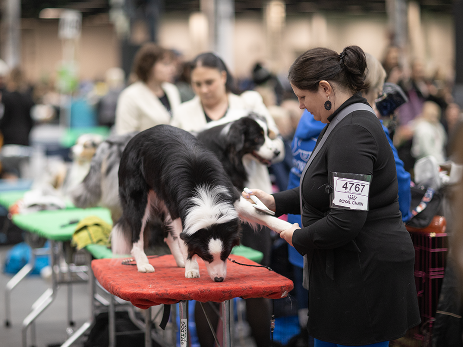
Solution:
{"label": "lowered black and white head of dog sniffing red table", "polygon": [[199,256],[215,282],[222,282],[232,248],[239,244],[240,221],[230,191],[224,186],[199,186],[191,198],[180,237],[188,259]]}

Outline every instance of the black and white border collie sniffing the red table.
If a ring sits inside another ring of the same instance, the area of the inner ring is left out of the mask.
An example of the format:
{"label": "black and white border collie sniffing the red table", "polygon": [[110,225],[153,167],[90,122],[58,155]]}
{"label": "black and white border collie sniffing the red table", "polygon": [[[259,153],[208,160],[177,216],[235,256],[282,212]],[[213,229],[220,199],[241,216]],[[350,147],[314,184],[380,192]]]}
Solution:
{"label": "black and white border collie sniffing the red table", "polygon": [[147,223],[160,218],[165,242],[186,278],[226,277],[226,261],[239,244],[240,220],[282,231],[290,223],[257,212],[233,186],[219,159],[187,131],[157,125],[134,136],[119,166],[122,217],[112,231],[116,254],[135,258],[139,272],[154,272],[144,253]]}

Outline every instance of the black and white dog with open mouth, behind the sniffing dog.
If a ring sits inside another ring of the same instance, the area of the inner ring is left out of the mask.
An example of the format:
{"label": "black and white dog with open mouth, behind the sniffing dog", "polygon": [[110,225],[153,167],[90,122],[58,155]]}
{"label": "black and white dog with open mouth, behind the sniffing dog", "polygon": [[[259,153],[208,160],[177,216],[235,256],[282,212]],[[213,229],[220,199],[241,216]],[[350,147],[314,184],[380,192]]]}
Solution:
{"label": "black and white dog with open mouth, behind the sniffing dog", "polygon": [[233,185],[243,190],[248,181],[243,157],[251,155],[261,163],[270,165],[280,155],[273,141],[276,135],[269,130],[266,119],[256,113],[220,123],[212,122],[213,127],[201,131],[196,137],[217,155]]}

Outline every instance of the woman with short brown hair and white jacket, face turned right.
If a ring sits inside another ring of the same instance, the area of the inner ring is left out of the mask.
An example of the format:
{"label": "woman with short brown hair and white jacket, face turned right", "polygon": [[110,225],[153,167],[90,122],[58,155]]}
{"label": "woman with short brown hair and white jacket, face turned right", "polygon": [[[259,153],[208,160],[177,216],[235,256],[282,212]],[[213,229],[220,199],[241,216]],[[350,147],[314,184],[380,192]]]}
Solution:
{"label": "woman with short brown hair and white jacket, face turned right", "polygon": [[137,81],[120,93],[116,106],[117,134],[169,124],[180,105],[180,93],[171,83],[175,76],[172,51],[145,44],[135,56],[133,73]]}

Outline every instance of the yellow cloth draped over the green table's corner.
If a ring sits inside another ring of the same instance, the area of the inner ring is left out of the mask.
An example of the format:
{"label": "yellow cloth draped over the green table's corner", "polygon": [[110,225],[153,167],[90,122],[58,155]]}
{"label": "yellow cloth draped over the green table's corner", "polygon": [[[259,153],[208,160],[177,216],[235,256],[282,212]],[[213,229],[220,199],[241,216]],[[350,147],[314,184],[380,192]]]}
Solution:
{"label": "yellow cloth draped over the green table's corner", "polygon": [[71,245],[78,250],[92,243],[109,246],[111,229],[111,225],[100,217],[85,217],[75,227]]}

